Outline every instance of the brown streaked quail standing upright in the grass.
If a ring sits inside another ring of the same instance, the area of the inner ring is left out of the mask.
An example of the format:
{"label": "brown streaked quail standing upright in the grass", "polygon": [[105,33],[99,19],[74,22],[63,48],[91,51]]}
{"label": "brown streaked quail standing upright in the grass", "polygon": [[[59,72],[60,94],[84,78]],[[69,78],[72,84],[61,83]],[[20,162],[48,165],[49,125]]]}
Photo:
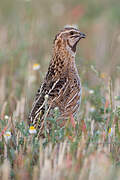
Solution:
{"label": "brown streaked quail standing upright in the grass", "polygon": [[[75,55],[78,42],[85,37],[84,33],[72,26],[64,27],[55,36],[48,71],[28,117],[29,125],[32,124],[38,130],[39,136],[43,136],[45,118],[52,116],[53,109],[59,109],[58,120],[63,121],[63,124],[79,109],[82,88]],[[50,122],[47,123],[49,129]]]}

